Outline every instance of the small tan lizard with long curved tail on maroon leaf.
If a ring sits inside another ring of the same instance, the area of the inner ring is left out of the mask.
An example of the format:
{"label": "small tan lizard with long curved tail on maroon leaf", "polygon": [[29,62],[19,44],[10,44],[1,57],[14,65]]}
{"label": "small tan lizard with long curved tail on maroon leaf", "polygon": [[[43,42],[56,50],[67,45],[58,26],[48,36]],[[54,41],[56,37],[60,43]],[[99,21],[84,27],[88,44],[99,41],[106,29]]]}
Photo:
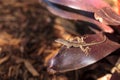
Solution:
{"label": "small tan lizard with long curved tail on maroon leaf", "polygon": [[80,47],[80,49],[85,53],[88,54],[90,51],[89,46],[93,46],[93,45],[97,45],[97,44],[101,44],[103,42],[106,41],[106,36],[104,36],[104,39],[102,41],[99,42],[91,42],[91,43],[86,43],[84,41],[84,37],[77,37],[77,41],[68,41],[68,40],[64,40],[64,39],[56,39],[55,42],[58,42],[60,44],[63,44],[65,46],[67,46],[67,48],[70,47]]}

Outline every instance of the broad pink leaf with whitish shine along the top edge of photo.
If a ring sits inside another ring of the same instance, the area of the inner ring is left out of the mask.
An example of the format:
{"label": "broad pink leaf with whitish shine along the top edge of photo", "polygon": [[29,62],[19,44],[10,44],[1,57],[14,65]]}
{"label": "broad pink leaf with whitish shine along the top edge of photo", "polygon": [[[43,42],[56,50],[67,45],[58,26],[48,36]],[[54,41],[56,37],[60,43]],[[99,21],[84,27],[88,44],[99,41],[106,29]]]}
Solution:
{"label": "broad pink leaf with whitish shine along the top edge of photo", "polygon": [[67,6],[73,9],[95,12],[109,5],[103,0],[47,0],[49,2]]}

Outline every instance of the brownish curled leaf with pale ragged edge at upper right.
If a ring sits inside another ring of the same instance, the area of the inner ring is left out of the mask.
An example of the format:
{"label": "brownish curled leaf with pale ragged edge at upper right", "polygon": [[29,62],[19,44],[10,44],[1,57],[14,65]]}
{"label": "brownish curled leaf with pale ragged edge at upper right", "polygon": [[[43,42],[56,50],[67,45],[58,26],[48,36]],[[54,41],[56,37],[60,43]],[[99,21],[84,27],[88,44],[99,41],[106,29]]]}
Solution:
{"label": "brownish curled leaf with pale ragged edge at upper right", "polygon": [[95,12],[95,19],[106,25],[120,25],[120,15],[116,14],[110,7],[104,7],[97,10]]}

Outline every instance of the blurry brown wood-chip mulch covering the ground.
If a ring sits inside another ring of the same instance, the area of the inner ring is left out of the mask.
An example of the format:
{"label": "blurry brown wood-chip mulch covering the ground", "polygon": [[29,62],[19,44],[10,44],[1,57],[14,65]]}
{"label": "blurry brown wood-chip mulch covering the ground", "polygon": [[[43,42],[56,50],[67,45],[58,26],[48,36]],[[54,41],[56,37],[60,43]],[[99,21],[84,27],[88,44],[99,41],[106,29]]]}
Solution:
{"label": "blurry brown wood-chip mulch covering the ground", "polygon": [[[52,15],[40,0],[1,0],[0,80],[96,80],[110,74],[119,51],[89,68],[54,75],[47,72],[45,62],[61,46],[54,40],[74,36],[74,23]],[[72,30],[66,29],[67,33],[61,26]]]}

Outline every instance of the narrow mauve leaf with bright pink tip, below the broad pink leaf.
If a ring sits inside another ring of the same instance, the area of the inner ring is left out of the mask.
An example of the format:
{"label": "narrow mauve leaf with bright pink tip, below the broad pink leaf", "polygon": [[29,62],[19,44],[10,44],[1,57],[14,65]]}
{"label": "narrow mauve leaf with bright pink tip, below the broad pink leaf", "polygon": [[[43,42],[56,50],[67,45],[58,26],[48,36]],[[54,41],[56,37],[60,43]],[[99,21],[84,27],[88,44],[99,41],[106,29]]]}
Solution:
{"label": "narrow mauve leaf with bright pink tip, below the broad pink leaf", "polygon": [[58,8],[57,6],[55,6],[54,4],[52,4],[51,2],[49,2],[48,0],[45,0],[45,1],[48,4],[48,6],[47,6],[48,10],[57,16],[60,16],[60,17],[66,18],[66,19],[89,22],[89,23],[97,25],[100,29],[102,29],[105,32],[108,32],[108,33],[113,32],[113,29],[105,24],[101,24],[98,21],[91,19],[89,17],[83,16],[81,14],[62,10],[62,9]]}

